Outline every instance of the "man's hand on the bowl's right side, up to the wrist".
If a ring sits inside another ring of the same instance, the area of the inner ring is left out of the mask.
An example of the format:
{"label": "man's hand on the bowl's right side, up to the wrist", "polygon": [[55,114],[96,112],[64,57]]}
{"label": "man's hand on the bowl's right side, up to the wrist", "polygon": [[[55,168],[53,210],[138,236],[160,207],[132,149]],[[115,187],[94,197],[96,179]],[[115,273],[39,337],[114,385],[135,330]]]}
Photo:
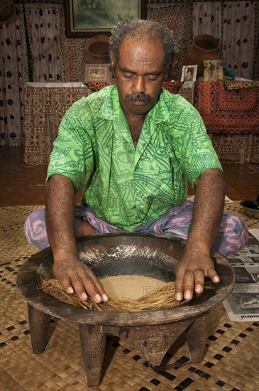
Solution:
{"label": "man's hand on the bowl's right side, up to the wrist", "polygon": [[193,291],[201,294],[204,277],[209,277],[215,284],[219,282],[211,257],[199,250],[184,254],[175,267],[175,299],[189,301],[192,299]]}

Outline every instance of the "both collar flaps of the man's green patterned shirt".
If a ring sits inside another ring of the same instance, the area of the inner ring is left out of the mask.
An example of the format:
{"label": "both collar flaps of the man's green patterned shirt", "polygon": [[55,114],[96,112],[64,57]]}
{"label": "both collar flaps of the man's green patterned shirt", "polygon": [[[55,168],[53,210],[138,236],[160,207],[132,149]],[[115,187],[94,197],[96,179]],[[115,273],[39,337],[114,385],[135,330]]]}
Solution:
{"label": "both collar flaps of the man's green patterned shirt", "polygon": [[[166,103],[166,95],[167,91],[162,88],[158,102],[150,110],[150,112],[148,112],[147,118],[149,120],[152,119],[156,124],[160,122],[167,122],[167,119],[169,117],[169,110],[167,108]],[[114,121],[115,119],[121,117],[122,113],[123,111],[119,102],[117,87],[116,85],[113,85],[111,87],[110,94],[106,95],[106,97],[104,98],[104,105],[102,105],[99,115],[101,118]]]}

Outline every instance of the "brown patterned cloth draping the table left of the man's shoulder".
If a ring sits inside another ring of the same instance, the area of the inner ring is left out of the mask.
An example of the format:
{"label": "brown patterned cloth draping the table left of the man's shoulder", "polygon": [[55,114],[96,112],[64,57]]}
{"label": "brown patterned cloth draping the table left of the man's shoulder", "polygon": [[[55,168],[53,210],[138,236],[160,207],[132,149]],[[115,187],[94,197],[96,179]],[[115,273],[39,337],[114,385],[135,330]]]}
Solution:
{"label": "brown patterned cloth draping the table left of the man's shoulder", "polygon": [[48,164],[60,126],[69,107],[92,93],[82,82],[28,82],[25,93],[23,161]]}

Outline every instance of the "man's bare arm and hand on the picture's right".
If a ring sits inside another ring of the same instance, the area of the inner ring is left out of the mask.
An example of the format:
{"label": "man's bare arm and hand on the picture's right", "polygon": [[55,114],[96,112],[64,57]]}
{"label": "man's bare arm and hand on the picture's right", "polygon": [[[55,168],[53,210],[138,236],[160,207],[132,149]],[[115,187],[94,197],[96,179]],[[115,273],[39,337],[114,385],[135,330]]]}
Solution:
{"label": "man's bare arm and hand on the picture's right", "polygon": [[175,268],[175,297],[192,299],[193,291],[202,293],[204,277],[214,283],[219,276],[211,259],[214,243],[224,210],[225,181],[217,168],[204,171],[196,184],[192,225],[181,261]]}

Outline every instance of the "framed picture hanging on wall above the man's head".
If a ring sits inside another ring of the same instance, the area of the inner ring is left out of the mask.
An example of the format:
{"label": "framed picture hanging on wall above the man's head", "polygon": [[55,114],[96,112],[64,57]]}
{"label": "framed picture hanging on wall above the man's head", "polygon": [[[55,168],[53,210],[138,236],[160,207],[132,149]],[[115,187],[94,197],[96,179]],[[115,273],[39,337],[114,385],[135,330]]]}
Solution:
{"label": "framed picture hanging on wall above the man's head", "polygon": [[109,35],[123,18],[145,18],[146,0],[65,0],[67,38]]}

